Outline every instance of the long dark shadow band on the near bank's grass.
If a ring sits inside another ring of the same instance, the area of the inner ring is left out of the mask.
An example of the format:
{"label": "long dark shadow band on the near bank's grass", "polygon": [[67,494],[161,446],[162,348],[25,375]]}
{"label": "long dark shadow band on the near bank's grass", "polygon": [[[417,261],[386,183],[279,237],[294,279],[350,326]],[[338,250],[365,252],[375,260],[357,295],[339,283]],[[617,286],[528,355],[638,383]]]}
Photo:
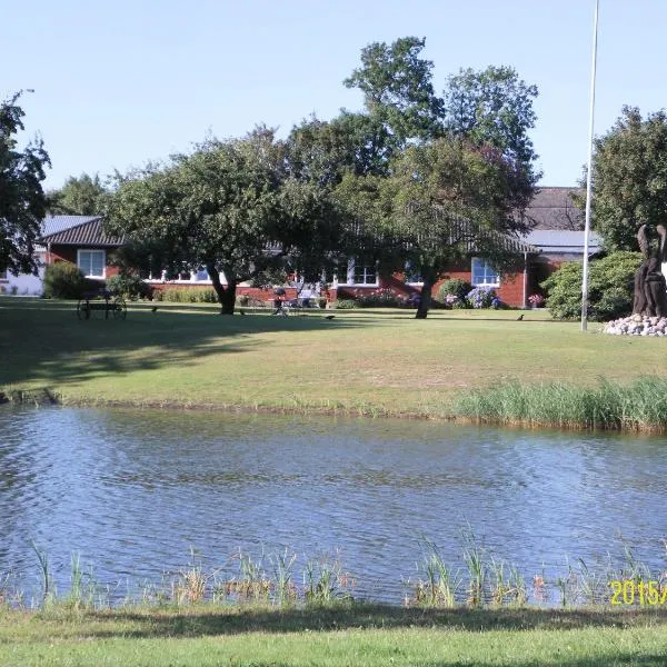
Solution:
{"label": "long dark shadow band on the near bank's grass", "polygon": [[[112,610],[87,618],[119,621],[119,634],[133,637],[236,635],[253,631],[299,633],[341,629],[449,628],[472,633],[488,630],[573,630],[667,626],[667,613],[637,610],[555,609],[416,609],[391,605],[352,604],[308,609],[197,607],[181,611]],[[135,626],[129,628],[127,624]],[[100,627],[101,635],[115,635]],[[96,629],[92,629],[96,633]]]}

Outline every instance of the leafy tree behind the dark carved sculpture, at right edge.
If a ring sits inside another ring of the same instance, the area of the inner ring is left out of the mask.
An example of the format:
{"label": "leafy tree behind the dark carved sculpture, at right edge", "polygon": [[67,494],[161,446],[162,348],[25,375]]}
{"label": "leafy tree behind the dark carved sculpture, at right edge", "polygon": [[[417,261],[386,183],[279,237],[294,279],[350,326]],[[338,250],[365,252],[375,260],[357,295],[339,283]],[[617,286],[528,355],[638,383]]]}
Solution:
{"label": "leafy tree behind the dark carved sculpture, at right edge", "polygon": [[[606,250],[637,250],[641,225],[667,221],[667,115],[624,107],[595,141],[593,219]],[[581,202],[583,203],[583,202]]]}

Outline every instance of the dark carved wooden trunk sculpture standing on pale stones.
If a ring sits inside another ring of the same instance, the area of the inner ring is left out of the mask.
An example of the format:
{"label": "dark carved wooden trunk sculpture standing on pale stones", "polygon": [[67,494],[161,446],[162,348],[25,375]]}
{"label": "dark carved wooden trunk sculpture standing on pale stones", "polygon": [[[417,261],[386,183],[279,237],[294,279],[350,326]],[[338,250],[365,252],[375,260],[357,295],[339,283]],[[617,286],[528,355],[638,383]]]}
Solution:
{"label": "dark carved wooden trunk sculpture standing on pale stones", "polygon": [[646,225],[637,232],[639,249],[644,261],[635,273],[635,303],[633,315],[649,317],[667,317],[667,281],[663,276],[661,265],[667,261],[667,229],[663,225],[656,227],[659,236],[658,248],[651,252]]}

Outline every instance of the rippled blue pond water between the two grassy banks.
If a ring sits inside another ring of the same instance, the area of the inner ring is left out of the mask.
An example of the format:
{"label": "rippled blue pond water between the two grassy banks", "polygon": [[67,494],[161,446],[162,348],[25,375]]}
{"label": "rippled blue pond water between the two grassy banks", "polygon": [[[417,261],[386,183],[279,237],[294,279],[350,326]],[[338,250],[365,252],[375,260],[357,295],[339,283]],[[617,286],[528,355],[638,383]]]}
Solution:
{"label": "rippled blue pond water between the two grassy banks", "polygon": [[63,589],[74,551],[116,584],[287,547],[339,549],[358,596],[399,603],[420,540],[462,566],[467,526],[528,580],[624,545],[665,568],[660,438],[58,408],[2,409],[0,434],[0,576],[28,589],[32,541]]}

